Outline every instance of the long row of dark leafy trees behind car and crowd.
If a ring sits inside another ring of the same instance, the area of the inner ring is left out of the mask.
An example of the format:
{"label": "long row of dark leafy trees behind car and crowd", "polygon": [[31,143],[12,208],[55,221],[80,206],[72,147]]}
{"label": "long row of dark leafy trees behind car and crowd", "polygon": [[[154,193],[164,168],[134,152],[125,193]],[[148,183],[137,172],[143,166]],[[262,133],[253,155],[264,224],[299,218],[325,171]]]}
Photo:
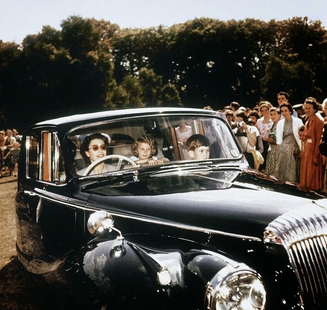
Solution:
{"label": "long row of dark leafy trees behind car and crowd", "polygon": [[265,22],[196,18],[172,27],[121,29],[70,16],[21,45],[0,40],[0,122],[105,109],[292,104],[327,97],[327,32],[307,17]]}

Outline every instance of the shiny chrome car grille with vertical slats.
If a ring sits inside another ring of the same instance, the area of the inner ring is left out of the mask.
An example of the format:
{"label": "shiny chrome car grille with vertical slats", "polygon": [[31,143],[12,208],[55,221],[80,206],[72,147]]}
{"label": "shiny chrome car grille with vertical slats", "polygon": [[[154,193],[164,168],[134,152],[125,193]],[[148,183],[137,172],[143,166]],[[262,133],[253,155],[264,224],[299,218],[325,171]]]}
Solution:
{"label": "shiny chrome car grille with vertical slats", "polygon": [[316,205],[292,210],[266,231],[279,237],[287,250],[305,309],[327,308],[327,210]]}

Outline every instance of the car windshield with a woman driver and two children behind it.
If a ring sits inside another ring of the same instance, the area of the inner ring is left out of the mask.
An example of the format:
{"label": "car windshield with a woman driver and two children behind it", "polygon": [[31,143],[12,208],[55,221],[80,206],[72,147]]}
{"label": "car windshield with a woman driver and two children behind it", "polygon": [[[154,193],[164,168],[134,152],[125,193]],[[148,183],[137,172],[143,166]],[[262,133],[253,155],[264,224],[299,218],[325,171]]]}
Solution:
{"label": "car windshield with a woman driver and two children behind it", "polygon": [[241,157],[225,121],[192,115],[143,116],[84,125],[68,135],[67,148],[73,173],[79,176]]}

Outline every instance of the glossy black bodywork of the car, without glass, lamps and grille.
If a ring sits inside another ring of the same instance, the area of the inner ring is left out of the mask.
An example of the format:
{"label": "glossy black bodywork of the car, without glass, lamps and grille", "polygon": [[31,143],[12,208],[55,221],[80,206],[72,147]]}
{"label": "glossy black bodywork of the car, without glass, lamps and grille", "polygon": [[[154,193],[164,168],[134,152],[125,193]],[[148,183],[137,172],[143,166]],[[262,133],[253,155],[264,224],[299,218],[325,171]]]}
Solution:
{"label": "glossy black bodywork of the car, without glass, lamps and grille", "polygon": [[[73,127],[141,114],[127,110],[68,117],[39,123],[33,130],[54,130],[64,145]],[[65,149],[63,154],[67,156]],[[324,194],[247,169],[241,158],[224,165],[212,160],[189,163],[182,174],[174,167],[147,167],[138,170],[137,181],[130,171],[77,179],[67,167],[64,184],[26,179],[25,161],[22,152],[16,196],[18,255],[30,271],[58,273],[74,304],[201,308],[207,281],[231,260],[262,275],[268,310],[299,308],[288,257],[281,247],[267,247],[263,232],[292,208],[325,206]],[[37,210],[42,210],[40,215]],[[116,233],[94,239],[87,231],[87,219],[97,210],[110,212],[123,233],[122,258],[110,256]],[[175,272],[171,285],[158,285],[157,260]]]}

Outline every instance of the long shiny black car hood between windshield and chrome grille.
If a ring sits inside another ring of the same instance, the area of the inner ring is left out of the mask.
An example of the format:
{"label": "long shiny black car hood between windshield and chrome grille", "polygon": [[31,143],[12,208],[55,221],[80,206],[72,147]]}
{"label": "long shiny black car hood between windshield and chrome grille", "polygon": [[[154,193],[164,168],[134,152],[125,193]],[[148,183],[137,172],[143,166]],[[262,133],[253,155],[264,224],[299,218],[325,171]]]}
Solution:
{"label": "long shiny black car hood between windshield and chrome grille", "polygon": [[94,189],[88,202],[116,214],[262,239],[264,229],[279,215],[324,206],[327,200],[323,193],[258,171],[223,170],[148,175]]}

